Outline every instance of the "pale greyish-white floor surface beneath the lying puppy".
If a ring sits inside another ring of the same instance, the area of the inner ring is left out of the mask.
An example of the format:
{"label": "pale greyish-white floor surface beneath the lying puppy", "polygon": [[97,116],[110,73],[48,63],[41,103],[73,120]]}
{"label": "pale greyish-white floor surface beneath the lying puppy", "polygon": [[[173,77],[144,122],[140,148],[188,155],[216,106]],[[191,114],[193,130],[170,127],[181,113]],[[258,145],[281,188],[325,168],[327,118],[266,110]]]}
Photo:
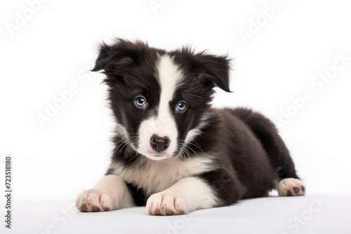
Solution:
{"label": "pale greyish-white floor surface beneath the lying puppy", "polygon": [[[320,200],[316,202],[316,200]],[[350,196],[242,200],[183,216],[148,216],[145,207],[79,213],[70,201],[16,201],[6,233],[351,233]],[[65,209],[72,210],[67,212]],[[300,217],[300,218],[299,218]],[[298,224],[300,220],[301,224]],[[4,227],[1,226],[4,230]],[[49,228],[49,229],[46,229]],[[1,231],[1,233],[4,233]],[[50,232],[48,232],[50,233]]]}

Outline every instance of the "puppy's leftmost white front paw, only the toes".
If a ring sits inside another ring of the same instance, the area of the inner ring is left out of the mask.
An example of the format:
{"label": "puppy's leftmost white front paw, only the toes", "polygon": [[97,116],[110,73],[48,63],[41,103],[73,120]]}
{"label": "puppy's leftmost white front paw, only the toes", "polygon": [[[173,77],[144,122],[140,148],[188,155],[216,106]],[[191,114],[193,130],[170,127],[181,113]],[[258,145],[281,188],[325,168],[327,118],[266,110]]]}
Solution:
{"label": "puppy's leftmost white front paw, only the toes", "polygon": [[102,189],[89,189],[79,195],[76,207],[81,212],[107,212],[113,210],[112,194]]}

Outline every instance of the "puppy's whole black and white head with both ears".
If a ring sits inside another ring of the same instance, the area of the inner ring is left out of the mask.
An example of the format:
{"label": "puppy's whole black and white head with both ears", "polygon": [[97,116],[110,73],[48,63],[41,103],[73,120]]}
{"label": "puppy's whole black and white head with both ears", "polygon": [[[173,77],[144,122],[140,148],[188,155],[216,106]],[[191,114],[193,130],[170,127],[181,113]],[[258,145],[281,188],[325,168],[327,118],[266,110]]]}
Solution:
{"label": "puppy's whole black and white head with both ears", "polygon": [[92,71],[102,69],[122,141],[152,160],[180,155],[200,134],[215,85],[230,92],[227,57],[188,48],[117,39],[100,47]]}

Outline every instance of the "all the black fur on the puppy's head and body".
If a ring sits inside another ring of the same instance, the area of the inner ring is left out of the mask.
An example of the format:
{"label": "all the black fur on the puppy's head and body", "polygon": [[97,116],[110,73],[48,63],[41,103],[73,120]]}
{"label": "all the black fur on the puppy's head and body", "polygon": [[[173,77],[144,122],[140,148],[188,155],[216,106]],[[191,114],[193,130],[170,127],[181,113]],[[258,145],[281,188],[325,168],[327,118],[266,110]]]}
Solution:
{"label": "all the black fur on the puppy's head and body", "polygon": [[[206,52],[194,53],[189,48],[166,52],[150,48],[141,41],[117,39],[112,46],[105,43],[93,71],[104,70],[109,87],[109,99],[117,122],[123,125],[128,136],[138,134],[143,119],[152,116],[159,104],[160,86],[155,77],[155,62],[158,55],[168,54],[183,69],[185,82],[176,90],[170,102],[178,128],[178,142],[184,142],[187,132],[201,124],[201,117],[211,114],[208,124],[201,129],[187,147],[190,156],[203,156],[202,152],[216,155],[218,170],[211,170],[197,177],[203,178],[216,191],[220,205],[230,205],[244,198],[266,196],[274,189],[276,182],[284,178],[298,178],[296,170],[273,123],[260,113],[249,109],[212,109],[213,87],[230,92],[230,60],[226,56],[210,55]],[[135,109],[133,100],[138,95],[147,99],[145,109]],[[187,111],[175,113],[174,106],[181,100],[187,102]],[[112,174],[115,164],[124,167],[140,165],[135,151],[128,152],[121,136],[113,139],[115,144]],[[178,149],[182,149],[178,145]],[[187,158],[180,158],[187,160]],[[145,205],[151,194],[145,193],[138,184],[127,184],[136,205]]]}

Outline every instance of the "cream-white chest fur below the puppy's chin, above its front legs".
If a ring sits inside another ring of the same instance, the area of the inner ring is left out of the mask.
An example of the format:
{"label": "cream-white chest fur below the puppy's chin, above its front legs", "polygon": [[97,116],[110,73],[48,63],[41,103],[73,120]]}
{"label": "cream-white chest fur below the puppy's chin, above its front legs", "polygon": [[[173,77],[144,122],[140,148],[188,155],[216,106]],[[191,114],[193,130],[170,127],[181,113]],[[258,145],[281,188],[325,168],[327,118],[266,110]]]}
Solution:
{"label": "cream-white chest fur below the puppy's chin, above its front legs", "polygon": [[179,160],[178,158],[166,158],[165,160],[148,160],[145,158],[140,165],[125,168],[117,165],[114,174],[124,179],[127,183],[133,183],[143,188],[146,193],[158,193],[171,187],[180,179],[192,177],[196,174],[216,169],[210,156],[199,156]]}

